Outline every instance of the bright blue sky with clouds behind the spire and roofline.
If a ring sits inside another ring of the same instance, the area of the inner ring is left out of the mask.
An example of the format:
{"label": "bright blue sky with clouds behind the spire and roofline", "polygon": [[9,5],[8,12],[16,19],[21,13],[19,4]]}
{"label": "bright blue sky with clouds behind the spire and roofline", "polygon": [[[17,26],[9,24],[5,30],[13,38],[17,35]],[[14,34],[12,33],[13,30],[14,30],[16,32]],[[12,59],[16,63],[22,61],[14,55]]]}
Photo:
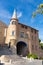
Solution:
{"label": "bright blue sky with clouds behind the spire and roofline", "polygon": [[32,18],[32,12],[42,3],[43,0],[0,0],[0,20],[8,25],[16,9],[19,22],[38,29],[39,38],[43,41],[43,15]]}

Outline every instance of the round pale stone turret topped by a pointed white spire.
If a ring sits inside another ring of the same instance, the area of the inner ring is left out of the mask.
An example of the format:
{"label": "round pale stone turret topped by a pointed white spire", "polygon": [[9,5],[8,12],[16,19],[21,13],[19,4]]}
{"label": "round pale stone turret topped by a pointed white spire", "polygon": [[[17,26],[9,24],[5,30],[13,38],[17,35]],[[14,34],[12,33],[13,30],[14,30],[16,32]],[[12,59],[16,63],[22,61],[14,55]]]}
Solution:
{"label": "round pale stone turret topped by a pointed white spire", "polygon": [[7,29],[6,43],[11,42],[11,45],[14,45],[16,43],[17,28],[18,28],[17,12],[16,10],[14,10],[13,16],[10,20],[10,24]]}

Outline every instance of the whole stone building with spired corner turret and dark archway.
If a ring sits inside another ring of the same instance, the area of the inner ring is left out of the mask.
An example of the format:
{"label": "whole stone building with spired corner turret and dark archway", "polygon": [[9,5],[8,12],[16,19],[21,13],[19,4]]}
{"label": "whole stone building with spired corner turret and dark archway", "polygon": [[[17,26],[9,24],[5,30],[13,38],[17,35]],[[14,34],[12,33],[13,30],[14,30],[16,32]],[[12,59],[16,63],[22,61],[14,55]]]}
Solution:
{"label": "whole stone building with spired corner turret and dark archway", "polygon": [[[10,46],[15,46],[18,55],[26,55],[26,53],[39,55],[38,30],[19,23],[16,11],[13,13],[9,26],[4,28],[5,44],[10,42]],[[3,39],[0,40],[3,41]]]}

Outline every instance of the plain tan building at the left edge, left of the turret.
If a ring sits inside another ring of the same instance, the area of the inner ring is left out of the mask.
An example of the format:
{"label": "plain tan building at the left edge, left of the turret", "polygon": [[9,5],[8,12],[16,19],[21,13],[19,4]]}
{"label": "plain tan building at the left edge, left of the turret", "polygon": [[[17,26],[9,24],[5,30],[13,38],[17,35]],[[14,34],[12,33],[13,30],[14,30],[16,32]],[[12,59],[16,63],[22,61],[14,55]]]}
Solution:
{"label": "plain tan building at the left edge, left of the turret", "polygon": [[5,29],[7,29],[7,25],[0,21],[0,44],[4,45],[5,43]]}

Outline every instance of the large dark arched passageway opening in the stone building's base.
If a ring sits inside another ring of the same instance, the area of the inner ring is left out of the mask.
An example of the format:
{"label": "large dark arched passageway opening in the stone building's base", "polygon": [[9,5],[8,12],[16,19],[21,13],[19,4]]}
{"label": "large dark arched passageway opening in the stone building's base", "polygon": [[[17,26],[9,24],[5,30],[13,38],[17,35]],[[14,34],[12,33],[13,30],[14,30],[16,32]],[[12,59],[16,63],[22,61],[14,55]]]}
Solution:
{"label": "large dark arched passageway opening in the stone building's base", "polygon": [[16,48],[18,55],[26,56],[28,54],[27,44],[23,41],[18,42]]}

